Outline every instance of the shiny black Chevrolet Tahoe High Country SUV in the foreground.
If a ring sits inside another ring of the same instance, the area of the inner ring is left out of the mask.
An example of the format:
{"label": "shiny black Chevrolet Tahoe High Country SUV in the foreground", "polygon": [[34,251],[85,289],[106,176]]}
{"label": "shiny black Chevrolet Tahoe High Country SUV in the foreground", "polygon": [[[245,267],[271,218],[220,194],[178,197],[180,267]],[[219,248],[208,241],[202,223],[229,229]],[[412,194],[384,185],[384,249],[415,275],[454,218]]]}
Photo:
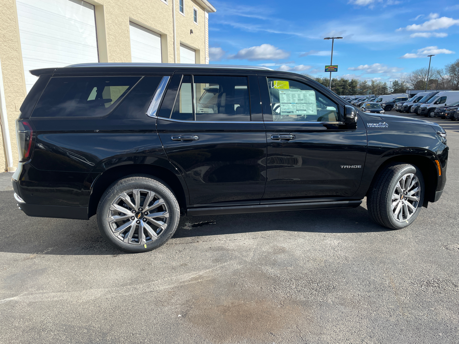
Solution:
{"label": "shiny black Chevrolet Tahoe High Country SUV in the foreground", "polygon": [[403,228],[445,185],[442,127],[358,111],[299,74],[132,63],[31,73],[18,205],[97,215],[120,250],[164,244],[181,215],[353,208],[365,196],[375,222]]}

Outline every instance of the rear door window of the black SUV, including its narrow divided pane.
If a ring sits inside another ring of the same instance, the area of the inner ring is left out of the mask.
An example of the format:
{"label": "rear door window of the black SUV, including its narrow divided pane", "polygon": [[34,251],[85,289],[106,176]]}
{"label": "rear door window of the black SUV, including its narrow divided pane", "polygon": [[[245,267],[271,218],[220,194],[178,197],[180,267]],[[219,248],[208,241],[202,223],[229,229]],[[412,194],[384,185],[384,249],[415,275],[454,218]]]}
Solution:
{"label": "rear door window of the black SUV, including its narrow divided pane", "polygon": [[250,121],[246,77],[184,76],[171,118],[201,122]]}

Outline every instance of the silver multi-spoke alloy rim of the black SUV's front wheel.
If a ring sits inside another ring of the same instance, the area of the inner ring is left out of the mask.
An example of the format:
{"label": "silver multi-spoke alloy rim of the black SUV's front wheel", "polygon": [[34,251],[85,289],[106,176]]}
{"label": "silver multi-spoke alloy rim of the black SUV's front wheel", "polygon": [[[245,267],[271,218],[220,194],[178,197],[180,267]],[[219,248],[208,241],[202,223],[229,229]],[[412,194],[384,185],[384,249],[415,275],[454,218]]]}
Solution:
{"label": "silver multi-spoke alloy rim of the black SUV's front wheel", "polygon": [[392,193],[392,215],[397,221],[407,221],[416,211],[421,195],[419,179],[408,173],[402,176]]}

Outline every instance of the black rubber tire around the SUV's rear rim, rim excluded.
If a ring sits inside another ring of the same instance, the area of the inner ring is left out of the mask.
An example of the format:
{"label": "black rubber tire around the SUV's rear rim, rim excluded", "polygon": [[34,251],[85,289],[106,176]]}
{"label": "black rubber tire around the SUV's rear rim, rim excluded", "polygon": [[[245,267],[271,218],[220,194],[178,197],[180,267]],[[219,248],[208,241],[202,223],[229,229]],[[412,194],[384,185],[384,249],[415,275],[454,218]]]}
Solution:
{"label": "black rubber tire around the SUV's rear rim, rim excluded", "polygon": [[[107,221],[112,202],[123,192],[132,189],[146,189],[155,192],[155,194],[165,201],[169,212],[169,223],[166,231],[161,233],[155,241],[147,243],[146,248],[143,245],[126,244],[117,239],[112,234],[112,230]],[[179,204],[173,192],[159,181],[146,177],[125,178],[113,183],[107,189],[106,193],[102,195],[101,202],[97,208],[97,224],[104,239],[117,249],[132,253],[151,251],[164,244],[174,235],[179,224],[179,218]]]}

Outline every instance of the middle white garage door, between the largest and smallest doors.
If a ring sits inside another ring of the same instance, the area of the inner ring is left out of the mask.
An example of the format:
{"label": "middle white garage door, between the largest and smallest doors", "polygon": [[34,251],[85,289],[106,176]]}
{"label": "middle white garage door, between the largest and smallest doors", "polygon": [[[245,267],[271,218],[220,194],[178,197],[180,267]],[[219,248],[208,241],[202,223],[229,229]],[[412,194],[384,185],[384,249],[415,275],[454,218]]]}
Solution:
{"label": "middle white garage door, between the largest and smallest doors", "polygon": [[131,61],[161,63],[161,35],[129,22]]}

